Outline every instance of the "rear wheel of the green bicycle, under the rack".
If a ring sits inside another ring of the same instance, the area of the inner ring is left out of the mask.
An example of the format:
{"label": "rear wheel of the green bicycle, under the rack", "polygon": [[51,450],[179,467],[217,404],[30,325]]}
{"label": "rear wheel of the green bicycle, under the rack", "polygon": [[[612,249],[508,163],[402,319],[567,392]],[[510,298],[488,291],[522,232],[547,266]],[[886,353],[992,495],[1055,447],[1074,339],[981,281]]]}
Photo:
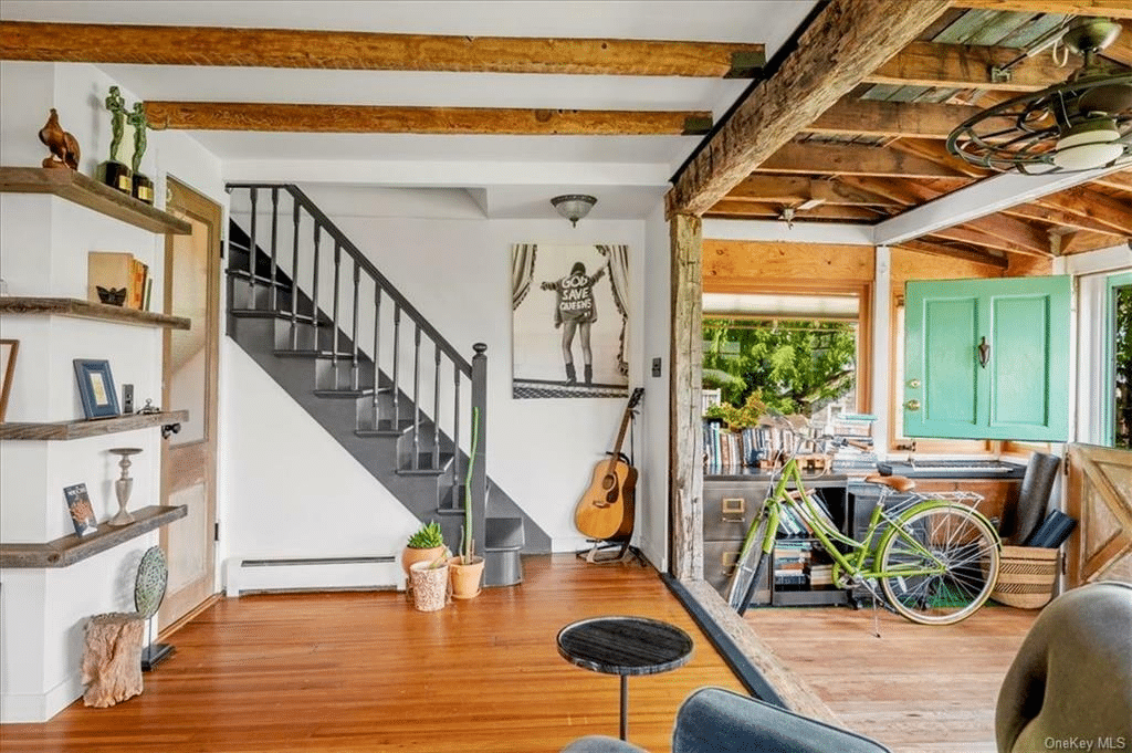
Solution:
{"label": "rear wheel of the green bicycle, under the rack", "polygon": [[963,505],[941,503],[901,517],[880,551],[881,588],[901,615],[951,625],[983,606],[998,580],[998,534]]}

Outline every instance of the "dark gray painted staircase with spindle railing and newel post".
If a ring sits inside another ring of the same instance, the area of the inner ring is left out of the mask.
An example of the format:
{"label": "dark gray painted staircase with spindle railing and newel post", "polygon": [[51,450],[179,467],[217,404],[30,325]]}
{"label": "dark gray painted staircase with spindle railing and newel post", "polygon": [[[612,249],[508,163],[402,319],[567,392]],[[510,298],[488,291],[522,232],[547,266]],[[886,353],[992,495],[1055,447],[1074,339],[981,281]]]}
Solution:
{"label": "dark gray painted staircase with spindle railing and newel post", "polygon": [[487,474],[487,346],[458,353],[298,187],[229,191],[229,335],[453,548],[471,489],[484,584],[516,582],[550,538]]}

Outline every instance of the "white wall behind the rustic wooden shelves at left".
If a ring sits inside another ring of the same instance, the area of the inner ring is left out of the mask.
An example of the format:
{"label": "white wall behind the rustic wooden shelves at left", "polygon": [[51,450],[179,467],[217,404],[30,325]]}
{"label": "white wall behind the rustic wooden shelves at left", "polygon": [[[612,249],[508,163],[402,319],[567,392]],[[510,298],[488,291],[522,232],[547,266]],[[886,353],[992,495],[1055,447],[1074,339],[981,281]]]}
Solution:
{"label": "white wall behind the rustic wooden shelves at left", "polygon": [[[38,166],[46,149],[37,132],[50,108],[77,138],[80,171],[93,174],[109,155],[110,119],[102,106],[114,82],[85,65],[0,63],[0,151],[6,165]],[[128,103],[135,97],[123,91]],[[132,154],[127,129],[121,159]],[[163,203],[164,176],[174,172],[217,200],[218,161],[190,138],[154,134],[143,161]],[[0,276],[11,296],[86,298],[87,254],[126,250],[151,266],[161,300],[164,238],[50,196],[0,195]],[[139,403],[161,403],[162,331],[62,317],[9,316],[2,336],[20,341],[9,421],[82,418],[72,359],[110,361],[119,395],[135,385]],[[85,482],[97,519],[118,508],[110,447],[142,447],[135,456],[130,507],[160,504],[160,434],[114,434],[74,442],[0,445],[0,531],[6,542],[43,542],[74,532],[62,488]],[[0,571],[0,720],[43,720],[80,693],[78,669],[88,616],[132,608],[132,577],[157,532],[88,561],[46,571]]]}

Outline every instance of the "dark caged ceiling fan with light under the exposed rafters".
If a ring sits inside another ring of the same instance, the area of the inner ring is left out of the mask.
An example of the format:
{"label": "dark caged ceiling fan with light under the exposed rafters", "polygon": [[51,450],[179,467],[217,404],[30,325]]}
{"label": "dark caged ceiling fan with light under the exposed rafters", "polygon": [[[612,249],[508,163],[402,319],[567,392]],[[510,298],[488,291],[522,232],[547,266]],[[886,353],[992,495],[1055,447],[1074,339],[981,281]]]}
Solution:
{"label": "dark caged ceiling fan with light under the exposed rafters", "polygon": [[947,151],[981,168],[1028,174],[1132,164],[1132,72],[1097,60],[1120,32],[1107,18],[1078,19],[1062,42],[1084,58],[1081,68],[968,119],[947,137]]}

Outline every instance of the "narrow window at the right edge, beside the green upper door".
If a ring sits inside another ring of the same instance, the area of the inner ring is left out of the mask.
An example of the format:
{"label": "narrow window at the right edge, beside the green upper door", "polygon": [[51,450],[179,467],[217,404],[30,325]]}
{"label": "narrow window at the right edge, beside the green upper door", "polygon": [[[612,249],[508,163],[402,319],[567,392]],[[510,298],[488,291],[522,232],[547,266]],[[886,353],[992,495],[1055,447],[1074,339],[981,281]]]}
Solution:
{"label": "narrow window at the right edge, beside the green upper door", "polygon": [[1105,437],[1132,448],[1132,273],[1108,279]]}

